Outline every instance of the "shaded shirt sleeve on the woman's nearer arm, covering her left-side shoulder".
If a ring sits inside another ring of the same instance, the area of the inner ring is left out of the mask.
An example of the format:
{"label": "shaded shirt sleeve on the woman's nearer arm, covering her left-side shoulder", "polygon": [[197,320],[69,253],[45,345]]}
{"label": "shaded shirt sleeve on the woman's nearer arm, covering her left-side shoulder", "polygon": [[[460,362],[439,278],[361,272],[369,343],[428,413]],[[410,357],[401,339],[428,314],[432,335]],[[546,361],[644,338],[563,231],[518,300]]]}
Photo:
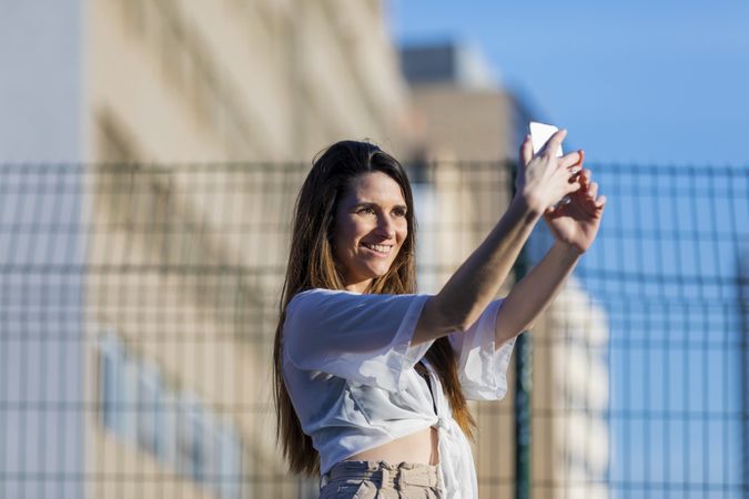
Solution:
{"label": "shaded shirt sleeve on the woman's nearer arm, covering her left-side shoulder", "polygon": [[434,340],[412,345],[428,295],[310,289],[286,307],[284,361],[398,391]]}

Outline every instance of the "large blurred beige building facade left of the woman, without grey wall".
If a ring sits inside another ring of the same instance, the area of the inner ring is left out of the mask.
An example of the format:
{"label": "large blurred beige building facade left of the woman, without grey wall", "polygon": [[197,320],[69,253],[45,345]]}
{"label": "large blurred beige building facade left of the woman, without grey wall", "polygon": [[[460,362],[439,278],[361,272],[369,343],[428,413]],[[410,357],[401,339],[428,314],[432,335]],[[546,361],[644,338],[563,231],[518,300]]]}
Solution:
{"label": "large blurred beige building facade left of the woman, without grey wall", "polygon": [[[315,497],[315,479],[286,473],[269,411],[286,224],[304,165],[324,145],[352,134],[395,151],[408,143],[383,6],[128,0],[89,9],[90,153],[114,162],[98,172],[92,214],[95,226],[122,227],[93,237],[90,262],[143,269],[89,282],[89,336],[99,339],[87,343],[88,393],[139,404],[90,415],[87,469],[115,478],[97,480],[91,497],[115,488],[124,497]],[[222,166],[242,161],[253,165]],[[118,314],[128,303],[142,314]]]}

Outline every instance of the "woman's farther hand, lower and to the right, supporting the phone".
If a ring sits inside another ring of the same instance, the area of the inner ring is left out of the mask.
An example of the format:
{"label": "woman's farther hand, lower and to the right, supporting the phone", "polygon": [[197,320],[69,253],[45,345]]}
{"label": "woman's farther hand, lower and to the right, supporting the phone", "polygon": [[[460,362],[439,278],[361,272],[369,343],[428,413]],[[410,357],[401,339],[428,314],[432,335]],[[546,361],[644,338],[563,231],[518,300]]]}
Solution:
{"label": "woman's farther hand, lower and to the right, supporting the phone", "polygon": [[544,220],[554,238],[579,253],[585,253],[598,233],[606,196],[598,196],[598,184],[590,182],[590,170],[579,175],[580,189],[571,193],[569,202],[544,212]]}

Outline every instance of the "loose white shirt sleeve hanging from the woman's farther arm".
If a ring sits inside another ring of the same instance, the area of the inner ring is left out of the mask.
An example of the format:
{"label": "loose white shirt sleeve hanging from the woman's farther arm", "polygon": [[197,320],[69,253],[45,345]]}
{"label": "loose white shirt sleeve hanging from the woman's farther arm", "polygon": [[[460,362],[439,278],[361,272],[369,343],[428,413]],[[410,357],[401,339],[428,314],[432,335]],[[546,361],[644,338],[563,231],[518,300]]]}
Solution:
{"label": "loose white shirt sleeve hanging from the woman's farther arm", "polygon": [[468,400],[500,400],[507,393],[507,368],[515,338],[495,342],[495,325],[502,299],[492,302],[464,333],[451,333],[457,357],[458,379]]}

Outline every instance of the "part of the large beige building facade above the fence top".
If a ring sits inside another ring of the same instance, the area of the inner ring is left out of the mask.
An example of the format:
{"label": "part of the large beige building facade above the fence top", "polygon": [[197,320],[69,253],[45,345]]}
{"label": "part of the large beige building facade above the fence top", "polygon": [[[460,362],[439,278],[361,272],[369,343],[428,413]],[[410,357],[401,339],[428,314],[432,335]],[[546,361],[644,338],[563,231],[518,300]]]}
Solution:
{"label": "part of the large beige building facade above the fence top", "polygon": [[379,1],[89,2],[90,152],[143,161],[308,161],[336,140],[407,143]]}

